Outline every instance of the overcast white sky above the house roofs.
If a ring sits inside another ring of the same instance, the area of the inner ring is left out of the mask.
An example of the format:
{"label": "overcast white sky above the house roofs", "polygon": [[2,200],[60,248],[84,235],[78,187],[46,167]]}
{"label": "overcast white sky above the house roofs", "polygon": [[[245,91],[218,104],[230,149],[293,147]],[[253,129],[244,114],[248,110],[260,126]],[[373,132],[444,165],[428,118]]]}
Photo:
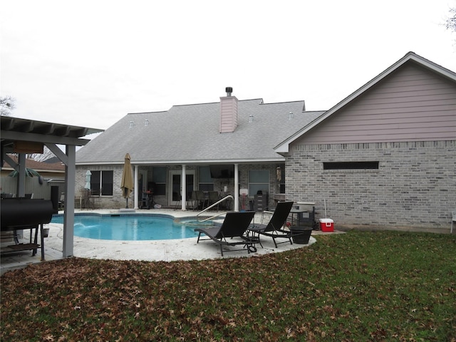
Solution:
{"label": "overcast white sky above the house roofs", "polygon": [[106,129],[239,100],[328,110],[409,51],[456,72],[456,0],[0,0],[11,116]]}

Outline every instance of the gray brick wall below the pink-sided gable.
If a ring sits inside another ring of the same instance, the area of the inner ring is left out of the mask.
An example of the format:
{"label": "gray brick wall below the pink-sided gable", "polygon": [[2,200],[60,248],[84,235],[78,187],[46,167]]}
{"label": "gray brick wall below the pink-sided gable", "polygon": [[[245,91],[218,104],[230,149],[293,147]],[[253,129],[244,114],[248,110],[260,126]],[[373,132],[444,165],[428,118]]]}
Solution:
{"label": "gray brick wall below the pink-sided gable", "polygon": [[[323,162],[378,161],[378,170],[323,170]],[[456,208],[456,141],[292,145],[286,197],[316,202],[336,229],[448,232]]]}

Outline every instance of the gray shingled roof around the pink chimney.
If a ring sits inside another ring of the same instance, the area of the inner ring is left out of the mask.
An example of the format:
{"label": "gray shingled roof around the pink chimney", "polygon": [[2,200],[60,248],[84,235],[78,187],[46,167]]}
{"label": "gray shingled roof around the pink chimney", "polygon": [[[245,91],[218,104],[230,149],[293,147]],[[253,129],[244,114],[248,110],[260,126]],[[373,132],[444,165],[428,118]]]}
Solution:
{"label": "gray shingled roof around the pink chimney", "polygon": [[219,102],[201,103],[130,113],[78,150],[76,164],[122,164],[125,153],[137,165],[281,162],[284,157],[274,152],[274,146],[323,113],[304,111],[303,100],[239,100],[236,130],[219,133],[220,107]]}

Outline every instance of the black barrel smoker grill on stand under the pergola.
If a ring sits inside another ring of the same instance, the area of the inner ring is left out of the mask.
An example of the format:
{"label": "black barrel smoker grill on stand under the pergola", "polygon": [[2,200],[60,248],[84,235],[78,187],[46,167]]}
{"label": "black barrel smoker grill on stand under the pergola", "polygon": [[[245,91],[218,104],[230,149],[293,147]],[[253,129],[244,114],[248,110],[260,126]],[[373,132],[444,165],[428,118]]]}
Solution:
{"label": "black barrel smoker grill on stand under the pergola", "polygon": [[[1,249],[1,254],[41,248],[41,260],[44,261],[43,224],[51,222],[53,214],[52,201],[47,199],[4,198],[1,199],[1,232],[12,232],[16,244]],[[41,245],[38,244],[38,226],[41,235]],[[30,229],[30,243],[19,244],[17,231]],[[35,239],[32,243],[32,231],[35,229]]]}

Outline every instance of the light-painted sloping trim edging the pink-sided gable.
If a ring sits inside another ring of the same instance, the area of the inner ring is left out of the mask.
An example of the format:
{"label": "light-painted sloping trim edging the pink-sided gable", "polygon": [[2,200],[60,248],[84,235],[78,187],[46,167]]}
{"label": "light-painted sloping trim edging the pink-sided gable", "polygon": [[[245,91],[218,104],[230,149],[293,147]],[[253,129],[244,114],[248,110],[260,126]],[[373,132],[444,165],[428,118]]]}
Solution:
{"label": "light-painted sloping trim edging the pink-sided gable", "polygon": [[294,135],[291,135],[290,137],[286,138],[284,141],[280,142],[279,145],[276,145],[276,147],[274,147],[274,150],[278,153],[289,152],[289,145],[292,142],[301,138],[301,136],[305,135],[307,132],[309,132],[309,130],[316,127],[316,125],[322,123],[324,120],[331,117],[331,115],[338,112],[342,108],[346,107],[346,105],[348,105],[348,103],[351,103],[353,100],[358,98],[360,95],[365,93],[367,90],[371,89],[373,86],[375,86],[377,83],[382,81],[384,78],[386,78],[390,74],[397,71],[398,68],[401,68],[405,63],[417,63],[418,65],[422,66],[423,68],[426,68],[429,71],[437,73],[438,75],[440,75],[444,78],[447,78],[452,82],[456,82],[456,73],[454,73],[446,68],[443,68],[442,66],[439,66],[436,63],[433,63],[432,61],[429,61],[421,56],[418,56],[416,53],[409,52],[409,53],[405,54],[405,56],[403,58],[401,58],[399,61],[397,61],[392,66],[387,68],[385,71],[380,73],[378,76],[373,78],[371,81],[366,83],[364,86],[362,86],[361,88],[359,88],[358,90],[353,92],[351,95],[348,95],[348,97],[344,98],[343,100],[341,100],[341,102],[334,105],[333,108],[326,111],[325,113],[320,115],[318,118],[316,118],[316,120],[309,123],[309,125],[306,125],[304,128],[301,128],[301,130],[296,132]]}

